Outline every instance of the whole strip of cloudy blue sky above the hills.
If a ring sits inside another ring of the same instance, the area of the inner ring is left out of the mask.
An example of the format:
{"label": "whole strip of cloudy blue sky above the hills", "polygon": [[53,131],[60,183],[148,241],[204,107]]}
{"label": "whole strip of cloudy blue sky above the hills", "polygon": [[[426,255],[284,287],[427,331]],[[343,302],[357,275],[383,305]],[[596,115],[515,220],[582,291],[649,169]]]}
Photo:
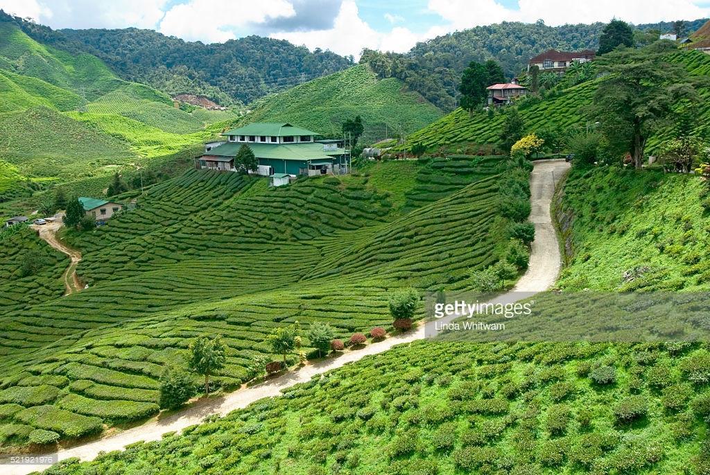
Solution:
{"label": "whole strip of cloudy blue sky above the hills", "polygon": [[710,0],[0,0],[52,28],[150,28],[188,41],[268,36],[359,58],[501,21],[655,23],[710,17]]}

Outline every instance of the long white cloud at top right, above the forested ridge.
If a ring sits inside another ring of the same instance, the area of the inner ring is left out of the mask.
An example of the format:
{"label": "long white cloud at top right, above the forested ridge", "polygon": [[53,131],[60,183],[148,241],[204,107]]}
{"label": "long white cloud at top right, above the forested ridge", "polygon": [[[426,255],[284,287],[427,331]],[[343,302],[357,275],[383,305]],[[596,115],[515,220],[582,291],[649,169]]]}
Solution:
{"label": "long white cloud at top right, above the forested ridge", "polygon": [[606,22],[615,17],[632,23],[655,23],[710,15],[709,8],[691,0],[519,0],[518,9],[508,9],[496,0],[430,0],[428,8],[456,30],[501,21],[532,23],[540,18],[556,26]]}

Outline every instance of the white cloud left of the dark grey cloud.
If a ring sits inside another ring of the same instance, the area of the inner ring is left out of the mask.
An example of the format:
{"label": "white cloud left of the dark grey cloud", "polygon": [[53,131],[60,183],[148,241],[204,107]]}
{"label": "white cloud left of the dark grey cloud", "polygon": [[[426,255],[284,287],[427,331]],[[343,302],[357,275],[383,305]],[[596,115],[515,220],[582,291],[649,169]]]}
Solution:
{"label": "white cloud left of the dark grey cloud", "polygon": [[192,0],[173,6],[165,13],[158,31],[185,40],[216,43],[236,38],[233,29],[249,23],[263,23],[268,18],[290,17],[296,14],[286,0],[250,2]]}

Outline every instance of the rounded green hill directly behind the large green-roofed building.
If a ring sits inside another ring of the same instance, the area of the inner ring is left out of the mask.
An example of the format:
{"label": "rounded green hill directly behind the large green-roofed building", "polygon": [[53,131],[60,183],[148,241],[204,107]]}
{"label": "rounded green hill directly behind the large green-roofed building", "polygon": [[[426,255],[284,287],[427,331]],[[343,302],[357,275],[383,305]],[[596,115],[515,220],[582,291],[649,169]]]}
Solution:
{"label": "rounded green hill directly behind the large green-roofed building", "polygon": [[245,122],[288,121],[323,133],[341,136],[342,123],[359,115],[364,141],[377,141],[403,131],[409,133],[438,119],[442,112],[419,93],[395,78],[378,80],[368,65],[357,65],[300,84],[256,102]]}

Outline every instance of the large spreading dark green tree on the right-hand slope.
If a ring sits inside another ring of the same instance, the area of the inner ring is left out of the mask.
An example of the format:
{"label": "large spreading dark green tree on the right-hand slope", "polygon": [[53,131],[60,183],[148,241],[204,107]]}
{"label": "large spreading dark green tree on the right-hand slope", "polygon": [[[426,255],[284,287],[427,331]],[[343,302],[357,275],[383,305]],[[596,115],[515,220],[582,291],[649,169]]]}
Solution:
{"label": "large spreading dark green tree on the right-hand slope", "polygon": [[611,74],[599,84],[590,114],[609,143],[630,152],[635,168],[641,168],[648,137],[676,119],[677,104],[698,102],[695,80],[668,60],[674,51],[664,43],[618,51],[602,67]]}

